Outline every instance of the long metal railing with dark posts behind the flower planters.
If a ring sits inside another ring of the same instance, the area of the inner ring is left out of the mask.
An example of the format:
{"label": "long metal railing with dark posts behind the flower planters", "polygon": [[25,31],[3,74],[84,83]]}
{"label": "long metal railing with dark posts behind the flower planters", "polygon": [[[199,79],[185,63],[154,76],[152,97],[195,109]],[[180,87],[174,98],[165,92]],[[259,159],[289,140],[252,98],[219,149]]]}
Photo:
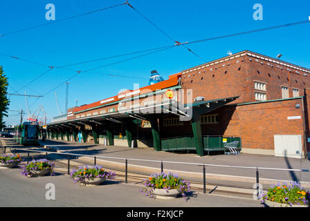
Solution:
{"label": "long metal railing with dark posts behind the flower planters", "polygon": [[[4,154],[6,154],[6,146],[2,146],[4,149]],[[10,148],[10,146],[8,146]],[[192,163],[192,162],[174,162],[174,161],[164,161],[164,160],[145,160],[145,159],[134,159],[134,158],[125,158],[125,157],[107,157],[102,155],[86,155],[86,154],[77,154],[77,153],[59,153],[53,151],[39,151],[39,150],[25,150],[24,148],[10,148],[15,151],[27,151],[27,164],[29,163],[29,153],[37,152],[37,153],[45,153],[45,157],[47,159],[48,153],[51,154],[59,154],[59,155],[67,155],[68,158],[68,174],[70,174],[70,160],[71,155],[78,157],[83,156],[89,159],[94,160],[94,165],[96,165],[97,158],[104,159],[114,159],[114,160],[125,160],[125,182],[128,182],[128,160],[132,161],[142,161],[142,162],[158,162],[161,165],[161,173],[163,173],[163,164],[186,164],[186,165],[195,165],[195,166],[203,166],[203,193],[206,193],[206,166],[217,166],[217,167],[226,167],[226,168],[238,168],[238,169],[253,169],[255,170],[256,184],[257,184],[257,197],[259,195],[259,170],[272,170],[272,171],[295,171],[295,172],[310,172],[310,169],[282,169],[282,168],[268,168],[268,167],[260,167],[260,166],[230,166],[230,165],[221,165],[221,164],[205,164],[205,163]],[[14,154],[14,153],[13,153]]]}

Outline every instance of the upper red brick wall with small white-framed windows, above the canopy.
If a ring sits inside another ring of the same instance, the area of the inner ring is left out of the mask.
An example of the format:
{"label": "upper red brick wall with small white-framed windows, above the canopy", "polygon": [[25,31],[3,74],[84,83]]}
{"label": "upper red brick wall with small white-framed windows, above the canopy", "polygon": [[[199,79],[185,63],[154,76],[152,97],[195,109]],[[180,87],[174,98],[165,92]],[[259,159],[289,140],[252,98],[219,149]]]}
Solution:
{"label": "upper red brick wall with small white-framed windows, above the canopy", "polygon": [[287,66],[244,55],[184,73],[181,85],[184,90],[192,89],[193,99],[240,96],[232,104],[255,102],[255,81],[266,83],[267,100],[282,99],[281,86],[289,87],[289,97],[293,97],[293,88],[299,89],[300,96],[303,96],[304,88],[310,87],[309,73],[306,77],[302,70],[297,73],[294,68],[287,69]]}

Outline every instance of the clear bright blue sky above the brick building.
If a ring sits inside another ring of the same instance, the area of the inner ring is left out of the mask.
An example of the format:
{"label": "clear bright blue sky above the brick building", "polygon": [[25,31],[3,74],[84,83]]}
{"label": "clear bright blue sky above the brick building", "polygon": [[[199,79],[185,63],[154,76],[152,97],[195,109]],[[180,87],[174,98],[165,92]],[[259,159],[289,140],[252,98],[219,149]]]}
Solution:
{"label": "clear bright blue sky above the brick building", "polygon": [[[10,95],[9,117],[4,119],[7,125],[19,124],[20,117],[14,111],[20,111],[22,108],[26,112],[27,106],[30,113],[39,114],[39,120],[44,121],[46,115],[47,122],[60,115],[60,111],[64,113],[66,84],[63,83],[80,70],[82,71],[80,74],[69,79],[69,108],[75,106],[77,102],[80,106],[117,95],[120,90],[133,89],[134,84],[139,84],[140,87],[146,86],[152,70],[157,70],[164,79],[167,79],[169,75],[203,64],[205,61],[225,57],[228,51],[235,53],[251,50],[269,57],[282,54],[282,60],[310,68],[309,22],[188,44],[188,48],[196,55],[185,47],[178,46],[141,57],[136,56],[146,52],[49,70],[47,66],[66,66],[139,50],[173,46],[174,41],[196,41],[306,21],[310,16],[309,0],[224,0],[220,3],[206,0],[129,0],[138,12],[170,37],[127,5],[59,21],[124,2],[124,0],[0,1],[0,35],[46,24],[0,37],[0,66],[3,66],[8,77],[8,93],[24,94],[26,91],[27,95],[44,95],[40,98],[27,97],[27,99],[23,96]],[[53,3],[55,6],[55,23],[46,20],[48,3]],[[257,10],[253,9],[255,3],[262,6],[262,20],[253,19],[253,13]],[[4,55],[21,59],[12,59]],[[136,58],[131,59],[132,57]],[[118,62],[125,59],[128,60]],[[105,67],[98,68],[100,66]],[[97,69],[83,73],[83,70],[91,68]],[[49,71],[45,73],[47,70]],[[45,74],[39,77],[43,73]],[[33,82],[29,84],[31,81]],[[22,88],[26,84],[29,85]],[[21,90],[18,90],[19,88]],[[57,108],[55,93],[60,111]],[[43,107],[43,111],[40,106]]]}

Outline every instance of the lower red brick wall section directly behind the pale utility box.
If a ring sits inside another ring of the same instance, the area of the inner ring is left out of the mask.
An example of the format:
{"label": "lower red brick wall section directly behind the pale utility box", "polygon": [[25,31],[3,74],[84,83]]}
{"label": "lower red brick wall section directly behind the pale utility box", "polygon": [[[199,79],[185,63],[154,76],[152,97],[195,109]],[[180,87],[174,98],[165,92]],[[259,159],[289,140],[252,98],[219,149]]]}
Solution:
{"label": "lower red brick wall section directly behind the pale utility box", "polygon": [[[300,108],[295,108],[296,104]],[[301,119],[287,119],[290,116]],[[273,150],[273,135],[302,135],[304,145],[303,119],[302,99],[241,105],[229,120],[224,135],[241,137],[242,148]]]}

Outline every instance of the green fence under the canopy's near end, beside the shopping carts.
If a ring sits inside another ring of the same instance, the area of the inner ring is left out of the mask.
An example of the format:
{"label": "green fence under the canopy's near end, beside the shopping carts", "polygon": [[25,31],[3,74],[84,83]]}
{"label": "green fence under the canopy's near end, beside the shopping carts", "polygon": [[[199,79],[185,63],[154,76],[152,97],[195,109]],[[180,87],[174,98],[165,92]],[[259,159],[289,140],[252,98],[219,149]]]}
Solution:
{"label": "green fence under the canopy's near end, beside the shopping carts", "polygon": [[[241,137],[203,136],[204,151],[226,151],[224,144],[238,141],[237,149],[241,151]],[[162,151],[196,151],[194,137],[172,137],[161,140]]]}

